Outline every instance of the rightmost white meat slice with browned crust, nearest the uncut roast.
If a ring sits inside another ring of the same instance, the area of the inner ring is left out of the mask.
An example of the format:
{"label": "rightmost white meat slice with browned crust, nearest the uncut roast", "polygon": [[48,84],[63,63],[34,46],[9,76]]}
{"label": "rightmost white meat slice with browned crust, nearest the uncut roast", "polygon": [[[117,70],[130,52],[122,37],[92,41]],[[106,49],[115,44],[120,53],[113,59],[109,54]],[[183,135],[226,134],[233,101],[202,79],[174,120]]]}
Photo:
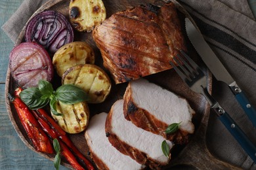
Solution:
{"label": "rightmost white meat slice with browned crust, nearest the uncut roast", "polygon": [[[125,118],[146,131],[179,144],[187,143],[189,135],[194,133],[195,112],[186,99],[175,93],[140,78],[129,82],[123,98]],[[178,131],[166,135],[167,126],[180,122]]]}

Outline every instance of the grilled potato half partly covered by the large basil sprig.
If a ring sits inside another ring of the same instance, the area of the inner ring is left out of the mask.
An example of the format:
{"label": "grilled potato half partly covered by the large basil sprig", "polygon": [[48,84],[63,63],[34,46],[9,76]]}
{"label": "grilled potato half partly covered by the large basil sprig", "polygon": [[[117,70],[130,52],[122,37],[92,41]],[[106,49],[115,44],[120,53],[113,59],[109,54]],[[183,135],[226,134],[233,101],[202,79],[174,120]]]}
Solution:
{"label": "grilled potato half partly covered by the large basil sprig", "polygon": [[52,113],[54,120],[67,133],[80,133],[84,131],[89,122],[89,107],[87,103],[80,102],[74,105],[66,105],[58,101],[56,103],[57,112],[62,116]]}

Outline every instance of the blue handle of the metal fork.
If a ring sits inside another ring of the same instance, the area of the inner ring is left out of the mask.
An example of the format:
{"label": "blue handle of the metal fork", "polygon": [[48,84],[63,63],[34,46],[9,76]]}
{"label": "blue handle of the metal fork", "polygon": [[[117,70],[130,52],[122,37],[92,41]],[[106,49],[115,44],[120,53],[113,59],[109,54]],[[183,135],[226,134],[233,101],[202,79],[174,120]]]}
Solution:
{"label": "blue handle of the metal fork", "polygon": [[251,157],[254,163],[256,163],[256,146],[248,139],[247,135],[245,135],[236,122],[234,122],[226,112],[219,115],[219,120],[221,120],[224,126],[226,126],[226,129],[228,129],[244,151]]}

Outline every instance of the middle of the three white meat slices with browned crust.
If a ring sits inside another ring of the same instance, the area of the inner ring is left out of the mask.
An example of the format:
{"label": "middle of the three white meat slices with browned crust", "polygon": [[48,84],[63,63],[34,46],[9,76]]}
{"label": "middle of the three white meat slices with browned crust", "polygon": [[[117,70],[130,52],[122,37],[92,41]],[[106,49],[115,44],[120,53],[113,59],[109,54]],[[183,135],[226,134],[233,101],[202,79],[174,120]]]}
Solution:
{"label": "middle of the three white meat slices with browned crust", "polygon": [[[123,99],[116,101],[106,119],[106,135],[110,143],[121,153],[152,169],[167,165],[169,158],[164,156],[161,143],[165,140],[160,135],[145,131],[123,116]],[[169,148],[172,143],[167,141]]]}

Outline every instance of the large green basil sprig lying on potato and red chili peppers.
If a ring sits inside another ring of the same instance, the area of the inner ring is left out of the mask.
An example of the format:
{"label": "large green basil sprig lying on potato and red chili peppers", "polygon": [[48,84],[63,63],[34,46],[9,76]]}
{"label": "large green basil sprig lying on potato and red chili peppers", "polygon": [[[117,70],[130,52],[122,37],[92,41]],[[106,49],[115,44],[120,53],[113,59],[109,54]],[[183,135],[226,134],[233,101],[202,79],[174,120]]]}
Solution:
{"label": "large green basil sprig lying on potato and red chili peppers", "polygon": [[46,80],[39,80],[38,88],[27,88],[20,93],[20,99],[32,110],[45,107],[50,102],[53,114],[60,116],[56,110],[58,101],[73,105],[88,100],[88,95],[74,84],[64,84],[53,90],[53,85]]}

